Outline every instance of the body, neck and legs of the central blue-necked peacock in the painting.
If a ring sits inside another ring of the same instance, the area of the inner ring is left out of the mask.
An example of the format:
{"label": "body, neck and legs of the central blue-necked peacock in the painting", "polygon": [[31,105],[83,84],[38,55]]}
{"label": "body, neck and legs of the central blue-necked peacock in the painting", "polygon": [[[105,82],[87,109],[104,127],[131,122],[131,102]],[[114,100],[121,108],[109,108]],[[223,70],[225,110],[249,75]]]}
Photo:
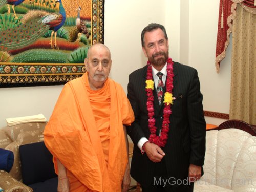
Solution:
{"label": "body, neck and legs of the central blue-necked peacock in the painting", "polygon": [[[66,20],[66,12],[62,5],[61,0],[57,0],[59,2],[59,13],[52,13],[42,18],[42,24],[48,25],[50,27],[51,33],[51,48],[59,49],[57,46],[57,32],[64,25]],[[53,42],[53,34],[55,41]]]}

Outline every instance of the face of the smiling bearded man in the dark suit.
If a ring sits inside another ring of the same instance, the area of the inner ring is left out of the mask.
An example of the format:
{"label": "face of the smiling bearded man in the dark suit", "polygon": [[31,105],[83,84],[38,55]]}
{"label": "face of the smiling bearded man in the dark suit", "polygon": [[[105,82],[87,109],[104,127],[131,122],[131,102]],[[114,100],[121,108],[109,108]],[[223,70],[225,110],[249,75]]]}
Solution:
{"label": "face of the smiling bearded man in the dark suit", "polygon": [[144,35],[144,47],[142,47],[145,56],[155,67],[163,67],[169,57],[168,40],[164,37],[161,29],[146,32]]}

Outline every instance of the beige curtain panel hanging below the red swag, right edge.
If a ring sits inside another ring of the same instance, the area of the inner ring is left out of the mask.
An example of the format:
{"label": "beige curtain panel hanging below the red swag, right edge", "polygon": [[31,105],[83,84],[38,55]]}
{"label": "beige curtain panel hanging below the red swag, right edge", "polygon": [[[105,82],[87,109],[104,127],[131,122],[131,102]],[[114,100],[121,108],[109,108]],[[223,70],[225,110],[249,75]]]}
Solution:
{"label": "beige curtain panel hanging below the red swag, right edge", "polygon": [[[252,3],[251,1],[246,1]],[[245,3],[246,3],[245,2]],[[230,119],[256,124],[256,14],[237,4],[232,26]],[[254,6],[255,7],[255,6]],[[253,11],[253,10],[252,10]]]}

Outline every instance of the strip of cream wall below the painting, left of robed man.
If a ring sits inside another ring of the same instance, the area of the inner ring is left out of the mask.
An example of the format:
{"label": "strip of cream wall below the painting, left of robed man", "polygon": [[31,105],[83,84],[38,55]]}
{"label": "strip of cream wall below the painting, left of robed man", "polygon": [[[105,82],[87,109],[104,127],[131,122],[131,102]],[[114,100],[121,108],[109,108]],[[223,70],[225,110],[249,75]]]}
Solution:
{"label": "strip of cream wall below the painting, left of robed man", "polygon": [[44,114],[50,118],[63,86],[0,88],[0,127],[6,118]]}

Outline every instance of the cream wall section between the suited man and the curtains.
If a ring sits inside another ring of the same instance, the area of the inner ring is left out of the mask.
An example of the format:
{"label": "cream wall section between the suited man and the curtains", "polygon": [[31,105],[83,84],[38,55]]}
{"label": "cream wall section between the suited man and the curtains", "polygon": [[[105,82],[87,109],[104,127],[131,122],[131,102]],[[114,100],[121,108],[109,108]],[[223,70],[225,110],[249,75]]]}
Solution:
{"label": "cream wall section between the suited man and the curtains", "polygon": [[[189,4],[189,65],[198,70],[204,110],[229,113],[231,80],[231,45],[221,62],[220,73],[215,69],[215,50],[219,1],[191,0]],[[232,40],[232,39],[231,39]],[[224,119],[206,117],[206,122],[220,124]]]}

